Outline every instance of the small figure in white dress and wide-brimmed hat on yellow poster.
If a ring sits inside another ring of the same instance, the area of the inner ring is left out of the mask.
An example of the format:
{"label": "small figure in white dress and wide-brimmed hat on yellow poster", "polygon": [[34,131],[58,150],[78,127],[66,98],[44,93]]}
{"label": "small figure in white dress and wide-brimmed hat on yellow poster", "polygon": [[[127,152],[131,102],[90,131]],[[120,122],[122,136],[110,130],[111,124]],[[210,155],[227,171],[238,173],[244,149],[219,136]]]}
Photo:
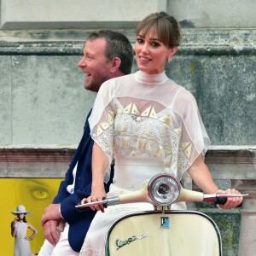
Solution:
{"label": "small figure in white dress and wide-brimmed hat on yellow poster", "polygon": [[[15,256],[31,256],[31,247],[29,241],[38,234],[32,224],[26,222],[26,215],[30,212],[26,212],[26,208],[22,205],[18,206],[15,212],[12,212],[17,216],[11,223],[11,234],[15,237]],[[26,230],[29,228],[33,231],[32,236],[26,236]]]}

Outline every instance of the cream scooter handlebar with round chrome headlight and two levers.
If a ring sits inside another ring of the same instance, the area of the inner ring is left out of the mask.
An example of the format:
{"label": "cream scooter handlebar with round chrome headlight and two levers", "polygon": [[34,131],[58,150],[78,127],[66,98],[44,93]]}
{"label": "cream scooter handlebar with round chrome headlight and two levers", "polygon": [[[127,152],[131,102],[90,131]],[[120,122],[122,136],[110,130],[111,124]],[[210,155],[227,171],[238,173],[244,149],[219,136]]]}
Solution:
{"label": "cream scooter handlebar with round chrome headlight and two levers", "polygon": [[241,197],[245,195],[231,194],[203,194],[202,192],[183,189],[175,177],[167,173],[160,173],[151,178],[148,186],[141,190],[131,192],[129,194],[103,198],[102,201],[94,201],[76,206],[79,212],[90,210],[91,206],[103,205],[114,206],[119,204],[148,202],[154,206],[170,206],[174,202],[179,201],[206,201],[218,205],[224,205],[227,197]]}

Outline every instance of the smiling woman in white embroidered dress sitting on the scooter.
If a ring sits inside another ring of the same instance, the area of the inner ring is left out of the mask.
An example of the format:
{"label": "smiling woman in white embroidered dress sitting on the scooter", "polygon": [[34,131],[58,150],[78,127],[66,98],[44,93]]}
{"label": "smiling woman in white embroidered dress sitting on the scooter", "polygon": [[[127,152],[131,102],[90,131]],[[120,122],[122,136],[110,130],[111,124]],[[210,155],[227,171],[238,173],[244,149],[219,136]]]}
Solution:
{"label": "smiling woman in white embroidered dress sitting on the scooter", "polygon": [[[141,189],[160,172],[183,179],[187,188],[193,179],[206,193],[221,191],[203,161],[210,142],[195,98],[164,72],[181,38],[175,18],[165,12],[149,15],[137,26],[139,71],[102,84],[90,116],[95,141],[93,176],[91,195],[84,201],[106,196],[103,181],[108,181],[113,159],[114,177],[108,196]],[[235,189],[226,192],[239,194]],[[224,207],[236,207],[241,201],[241,197],[229,198]],[[103,255],[104,237],[115,218],[152,207],[130,204],[108,207],[105,212],[102,205],[91,208],[101,212],[96,213],[80,255]],[[172,208],[183,209],[185,204]]]}

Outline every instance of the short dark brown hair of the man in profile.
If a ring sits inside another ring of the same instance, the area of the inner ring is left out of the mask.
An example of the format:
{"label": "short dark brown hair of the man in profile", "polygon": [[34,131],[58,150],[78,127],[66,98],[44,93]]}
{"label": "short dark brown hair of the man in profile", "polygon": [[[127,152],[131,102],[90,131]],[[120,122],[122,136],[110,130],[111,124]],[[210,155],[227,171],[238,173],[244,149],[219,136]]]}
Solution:
{"label": "short dark brown hair of the man in profile", "polygon": [[134,54],[128,38],[119,32],[100,30],[91,32],[87,40],[95,40],[96,38],[104,38],[106,40],[106,58],[110,61],[115,57],[119,57],[121,60],[120,71],[124,74],[131,73]]}

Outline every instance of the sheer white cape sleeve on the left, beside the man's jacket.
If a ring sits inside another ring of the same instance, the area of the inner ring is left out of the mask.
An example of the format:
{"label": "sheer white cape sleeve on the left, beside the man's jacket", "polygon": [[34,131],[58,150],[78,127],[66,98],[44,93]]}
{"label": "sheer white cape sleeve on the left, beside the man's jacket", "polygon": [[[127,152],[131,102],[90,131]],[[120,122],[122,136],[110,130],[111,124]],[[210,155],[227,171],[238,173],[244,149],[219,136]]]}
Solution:
{"label": "sheer white cape sleeve on the left, beside the man's jacket", "polygon": [[90,115],[90,136],[108,157],[108,169],[104,182],[108,183],[110,177],[110,165],[113,160],[113,79],[102,84]]}

